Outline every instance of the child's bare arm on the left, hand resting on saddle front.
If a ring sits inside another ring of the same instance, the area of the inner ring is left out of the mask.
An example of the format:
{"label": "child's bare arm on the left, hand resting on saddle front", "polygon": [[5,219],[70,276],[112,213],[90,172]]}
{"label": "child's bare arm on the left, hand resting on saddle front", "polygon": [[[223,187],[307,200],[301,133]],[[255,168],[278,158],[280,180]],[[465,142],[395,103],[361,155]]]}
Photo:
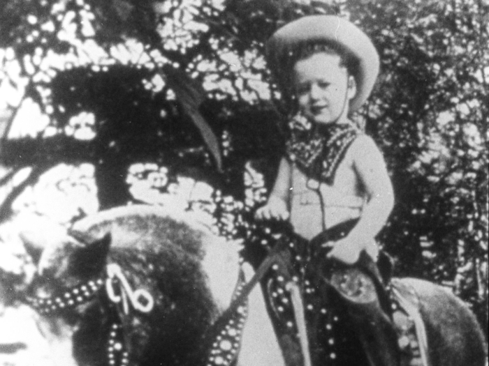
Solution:
{"label": "child's bare arm on the left, hand resting on saddle front", "polygon": [[290,188],[291,165],[285,158],[282,158],[270,197],[268,197],[265,206],[258,208],[255,218],[258,220],[287,220],[289,218],[288,201]]}

